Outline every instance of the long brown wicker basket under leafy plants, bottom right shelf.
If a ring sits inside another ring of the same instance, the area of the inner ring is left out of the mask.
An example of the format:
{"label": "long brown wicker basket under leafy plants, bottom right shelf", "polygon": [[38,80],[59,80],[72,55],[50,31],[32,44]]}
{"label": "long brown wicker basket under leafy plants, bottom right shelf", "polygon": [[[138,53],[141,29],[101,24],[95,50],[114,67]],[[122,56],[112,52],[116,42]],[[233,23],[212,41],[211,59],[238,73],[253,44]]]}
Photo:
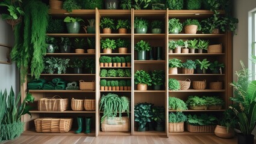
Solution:
{"label": "long brown wicker basket under leafy plants, bottom right shelf", "polygon": [[187,124],[187,131],[191,133],[213,133],[216,125],[195,126]]}

